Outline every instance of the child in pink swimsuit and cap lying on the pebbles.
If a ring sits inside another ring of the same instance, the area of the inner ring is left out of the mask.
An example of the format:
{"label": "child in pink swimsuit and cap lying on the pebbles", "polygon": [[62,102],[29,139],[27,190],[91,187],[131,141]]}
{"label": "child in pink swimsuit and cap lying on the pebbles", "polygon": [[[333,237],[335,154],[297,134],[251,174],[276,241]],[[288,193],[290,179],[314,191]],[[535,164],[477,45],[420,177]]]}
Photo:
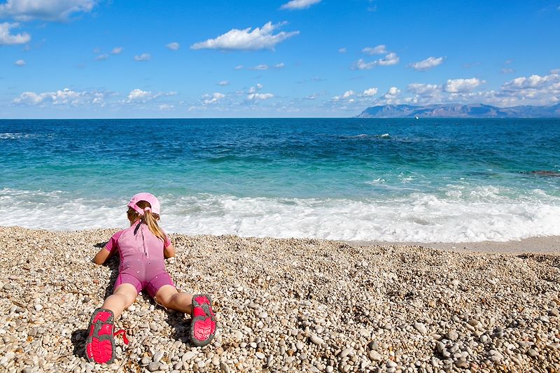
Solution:
{"label": "child in pink swimsuit and cap lying on the pebbles", "polygon": [[211,298],[179,293],[165,269],[165,258],[175,256],[175,248],[158,225],[160,202],[150,193],[139,193],[127,206],[130,227],[113,234],[94,258],[95,264],[102,265],[118,251],[120,265],[113,294],[94,311],[87,328],[87,359],[95,363],[113,362],[113,336],[124,332],[113,333],[113,322],[134,303],[141,290],[167,309],[190,314],[191,342],[196,346],[209,344],[216,331]]}

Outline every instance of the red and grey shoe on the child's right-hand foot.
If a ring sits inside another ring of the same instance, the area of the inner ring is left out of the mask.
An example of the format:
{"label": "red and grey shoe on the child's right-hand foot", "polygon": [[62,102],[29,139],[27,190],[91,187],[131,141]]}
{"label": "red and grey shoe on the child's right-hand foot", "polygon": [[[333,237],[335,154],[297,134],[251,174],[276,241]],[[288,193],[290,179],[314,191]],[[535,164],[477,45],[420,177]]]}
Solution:
{"label": "red and grey shoe on the child's right-hand foot", "polygon": [[195,346],[206,346],[216,332],[216,315],[212,311],[212,298],[209,295],[193,295],[193,318],[190,321],[190,342]]}

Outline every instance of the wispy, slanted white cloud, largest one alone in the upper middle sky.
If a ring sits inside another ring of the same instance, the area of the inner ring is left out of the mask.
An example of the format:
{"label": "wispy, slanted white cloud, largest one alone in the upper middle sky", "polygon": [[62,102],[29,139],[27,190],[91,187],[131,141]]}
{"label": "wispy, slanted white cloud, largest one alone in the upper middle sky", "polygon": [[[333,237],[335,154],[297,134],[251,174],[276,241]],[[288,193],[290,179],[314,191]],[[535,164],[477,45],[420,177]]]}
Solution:
{"label": "wispy, slanted white cloud, largest one alone in the upper middle sky", "polygon": [[277,24],[268,22],[262,26],[262,28],[256,27],[253,31],[251,31],[251,27],[243,30],[231,29],[217,38],[195,43],[191,45],[190,48],[218,50],[274,50],[276,44],[300,33],[300,31],[281,31],[278,34],[272,34],[275,29],[283,26],[283,24],[286,24],[286,22]]}

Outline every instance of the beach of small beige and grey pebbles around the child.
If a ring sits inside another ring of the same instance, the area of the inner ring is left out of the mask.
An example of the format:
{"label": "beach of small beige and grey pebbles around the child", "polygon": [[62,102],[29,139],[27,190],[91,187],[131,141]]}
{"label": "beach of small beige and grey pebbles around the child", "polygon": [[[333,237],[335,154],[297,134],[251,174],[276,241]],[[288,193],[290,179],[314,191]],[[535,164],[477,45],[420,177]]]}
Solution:
{"label": "beach of small beige and grey pebbles around the child", "polygon": [[147,295],[116,321],[117,359],[85,359],[116,230],[0,227],[1,372],[560,372],[560,255],[172,234],[167,270],[209,293],[218,331]]}

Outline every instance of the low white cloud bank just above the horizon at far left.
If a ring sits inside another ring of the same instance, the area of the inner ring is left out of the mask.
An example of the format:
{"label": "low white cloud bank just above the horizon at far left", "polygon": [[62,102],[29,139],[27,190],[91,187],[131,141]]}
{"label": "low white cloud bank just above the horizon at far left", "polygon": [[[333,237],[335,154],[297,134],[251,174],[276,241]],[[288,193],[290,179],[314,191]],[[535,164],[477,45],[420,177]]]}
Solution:
{"label": "low white cloud bank just above the horizon at far left", "polygon": [[69,88],[57,90],[56,92],[23,92],[12,100],[12,104],[31,106],[43,106],[46,104],[69,106],[84,104],[103,105],[104,99],[108,94],[108,92],[74,91]]}

